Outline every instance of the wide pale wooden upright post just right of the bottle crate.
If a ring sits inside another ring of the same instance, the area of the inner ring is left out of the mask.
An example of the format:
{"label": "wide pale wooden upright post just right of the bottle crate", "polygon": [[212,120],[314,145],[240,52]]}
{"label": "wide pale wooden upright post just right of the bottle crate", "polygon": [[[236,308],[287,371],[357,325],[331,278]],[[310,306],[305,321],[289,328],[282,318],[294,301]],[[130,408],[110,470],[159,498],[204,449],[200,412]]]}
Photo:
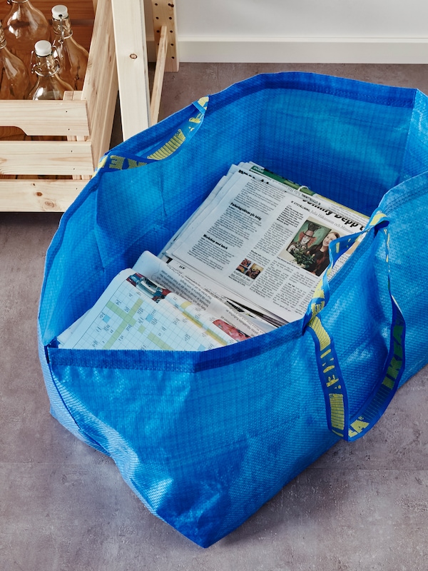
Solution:
{"label": "wide pale wooden upright post just right of the bottle crate", "polygon": [[150,124],[144,6],[143,0],[111,0],[111,7],[116,37],[122,131],[123,139],[127,139]]}

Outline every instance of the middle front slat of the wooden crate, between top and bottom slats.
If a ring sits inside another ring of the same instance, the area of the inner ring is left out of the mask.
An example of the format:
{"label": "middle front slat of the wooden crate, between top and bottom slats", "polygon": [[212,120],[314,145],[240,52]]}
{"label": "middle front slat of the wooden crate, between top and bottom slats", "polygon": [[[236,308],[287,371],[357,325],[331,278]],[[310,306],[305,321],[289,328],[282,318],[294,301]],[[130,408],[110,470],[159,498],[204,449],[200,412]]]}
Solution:
{"label": "middle front slat of the wooden crate, between top and bottom slats", "polygon": [[0,173],[90,175],[90,141],[0,141]]}

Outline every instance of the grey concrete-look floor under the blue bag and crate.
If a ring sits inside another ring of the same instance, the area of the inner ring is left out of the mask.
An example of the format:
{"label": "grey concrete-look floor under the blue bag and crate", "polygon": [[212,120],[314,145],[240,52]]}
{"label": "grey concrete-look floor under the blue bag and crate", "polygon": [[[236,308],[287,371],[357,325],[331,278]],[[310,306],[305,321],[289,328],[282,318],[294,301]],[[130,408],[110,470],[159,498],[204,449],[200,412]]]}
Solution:
{"label": "grey concrete-look floor under the blue bag and crate", "polygon": [[[245,77],[290,70],[428,93],[428,66],[182,64],[165,77],[161,116]],[[36,315],[60,217],[0,213],[0,570],[428,570],[428,368],[365,438],[337,444],[207,550],[151,515],[113,461],[49,415]]]}

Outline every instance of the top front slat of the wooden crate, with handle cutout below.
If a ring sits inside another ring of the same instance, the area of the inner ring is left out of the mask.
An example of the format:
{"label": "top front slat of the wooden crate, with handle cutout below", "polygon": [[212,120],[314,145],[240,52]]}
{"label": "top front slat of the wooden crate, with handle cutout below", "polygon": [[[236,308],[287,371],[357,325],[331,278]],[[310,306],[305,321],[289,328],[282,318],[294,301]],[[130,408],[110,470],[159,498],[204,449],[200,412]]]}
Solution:
{"label": "top front slat of the wooden crate, with handle cutout below", "polygon": [[0,126],[19,127],[28,135],[87,136],[86,101],[3,100]]}

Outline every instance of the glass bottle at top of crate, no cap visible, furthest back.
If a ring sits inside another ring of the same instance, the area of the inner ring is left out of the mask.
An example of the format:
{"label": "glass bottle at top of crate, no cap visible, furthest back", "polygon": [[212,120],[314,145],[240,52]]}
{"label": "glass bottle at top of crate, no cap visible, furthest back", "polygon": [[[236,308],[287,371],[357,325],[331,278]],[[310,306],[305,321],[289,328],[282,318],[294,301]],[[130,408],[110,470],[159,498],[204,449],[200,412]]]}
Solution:
{"label": "glass bottle at top of crate, no cap visible, furthest back", "polygon": [[3,19],[4,36],[12,52],[30,69],[31,51],[39,40],[49,40],[49,23],[29,0],[7,0],[11,9]]}

